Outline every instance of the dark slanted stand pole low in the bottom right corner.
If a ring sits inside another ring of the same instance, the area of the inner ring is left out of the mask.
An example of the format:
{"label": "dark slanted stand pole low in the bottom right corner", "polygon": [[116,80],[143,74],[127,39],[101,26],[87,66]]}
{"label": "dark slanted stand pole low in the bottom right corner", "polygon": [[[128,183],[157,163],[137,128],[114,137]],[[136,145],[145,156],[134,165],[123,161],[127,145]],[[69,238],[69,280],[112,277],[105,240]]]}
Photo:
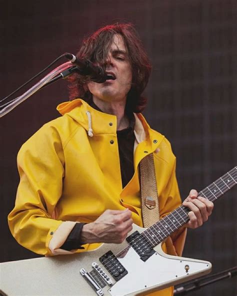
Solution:
{"label": "dark slanted stand pole low in the bottom right corner", "polygon": [[228,278],[228,277],[231,278],[236,275],[237,275],[237,266],[234,266],[232,268],[226,269],[218,273],[214,273],[212,275],[203,276],[198,279],[194,279],[192,281],[185,283],[183,286],[177,286],[175,287],[173,294],[184,295],[190,291],[197,290],[207,284],[211,284],[215,281],[219,281],[224,278]]}

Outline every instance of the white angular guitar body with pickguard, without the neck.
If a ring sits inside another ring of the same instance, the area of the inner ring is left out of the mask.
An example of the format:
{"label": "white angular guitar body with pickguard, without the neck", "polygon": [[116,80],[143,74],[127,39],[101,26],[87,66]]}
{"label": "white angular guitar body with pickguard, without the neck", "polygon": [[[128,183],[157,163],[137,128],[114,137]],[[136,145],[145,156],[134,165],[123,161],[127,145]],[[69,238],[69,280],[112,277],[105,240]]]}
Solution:
{"label": "white angular guitar body with pickguard, without the neck", "polygon": [[[143,232],[145,228],[133,224],[132,231]],[[8,295],[96,295],[80,270],[92,270],[96,262],[112,280],[104,286],[98,295],[138,295],[159,290],[176,283],[210,272],[207,261],[170,256],[161,249],[161,243],[155,246],[153,254],[145,261],[126,240],[121,244],[101,244],[93,251],[73,255],[60,255],[26,259],[0,264],[0,287]],[[119,254],[117,260],[127,271],[121,279],[115,281],[110,270],[99,262],[106,252]],[[121,252],[122,251],[122,252]]]}

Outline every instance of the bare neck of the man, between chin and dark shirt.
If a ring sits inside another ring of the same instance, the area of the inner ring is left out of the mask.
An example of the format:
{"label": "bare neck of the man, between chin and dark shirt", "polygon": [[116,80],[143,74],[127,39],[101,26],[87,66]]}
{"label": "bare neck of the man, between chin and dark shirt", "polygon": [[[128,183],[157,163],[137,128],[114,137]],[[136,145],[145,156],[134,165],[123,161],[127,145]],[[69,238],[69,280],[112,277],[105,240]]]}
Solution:
{"label": "bare neck of the man, between chin and dark shirt", "polygon": [[119,102],[107,102],[93,97],[93,102],[104,113],[116,116],[117,130],[122,130],[128,127],[129,121],[125,115],[126,100]]}

